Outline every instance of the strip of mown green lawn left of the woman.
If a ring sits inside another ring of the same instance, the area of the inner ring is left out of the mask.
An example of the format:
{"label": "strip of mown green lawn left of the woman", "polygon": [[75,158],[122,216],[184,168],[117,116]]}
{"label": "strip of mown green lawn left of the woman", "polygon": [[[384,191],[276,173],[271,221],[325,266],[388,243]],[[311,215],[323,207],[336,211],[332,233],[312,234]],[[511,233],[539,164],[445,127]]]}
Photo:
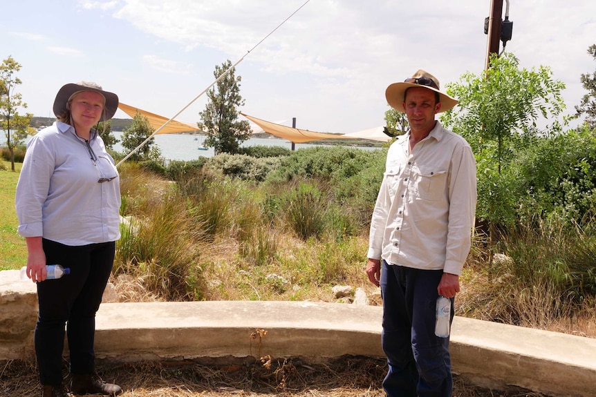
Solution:
{"label": "strip of mown green lawn left of the woman", "polygon": [[21,164],[15,163],[15,172],[10,171],[10,162],[0,160],[0,270],[19,269],[27,264],[25,239],[17,234],[17,211],[15,210],[15,189],[19,180]]}

